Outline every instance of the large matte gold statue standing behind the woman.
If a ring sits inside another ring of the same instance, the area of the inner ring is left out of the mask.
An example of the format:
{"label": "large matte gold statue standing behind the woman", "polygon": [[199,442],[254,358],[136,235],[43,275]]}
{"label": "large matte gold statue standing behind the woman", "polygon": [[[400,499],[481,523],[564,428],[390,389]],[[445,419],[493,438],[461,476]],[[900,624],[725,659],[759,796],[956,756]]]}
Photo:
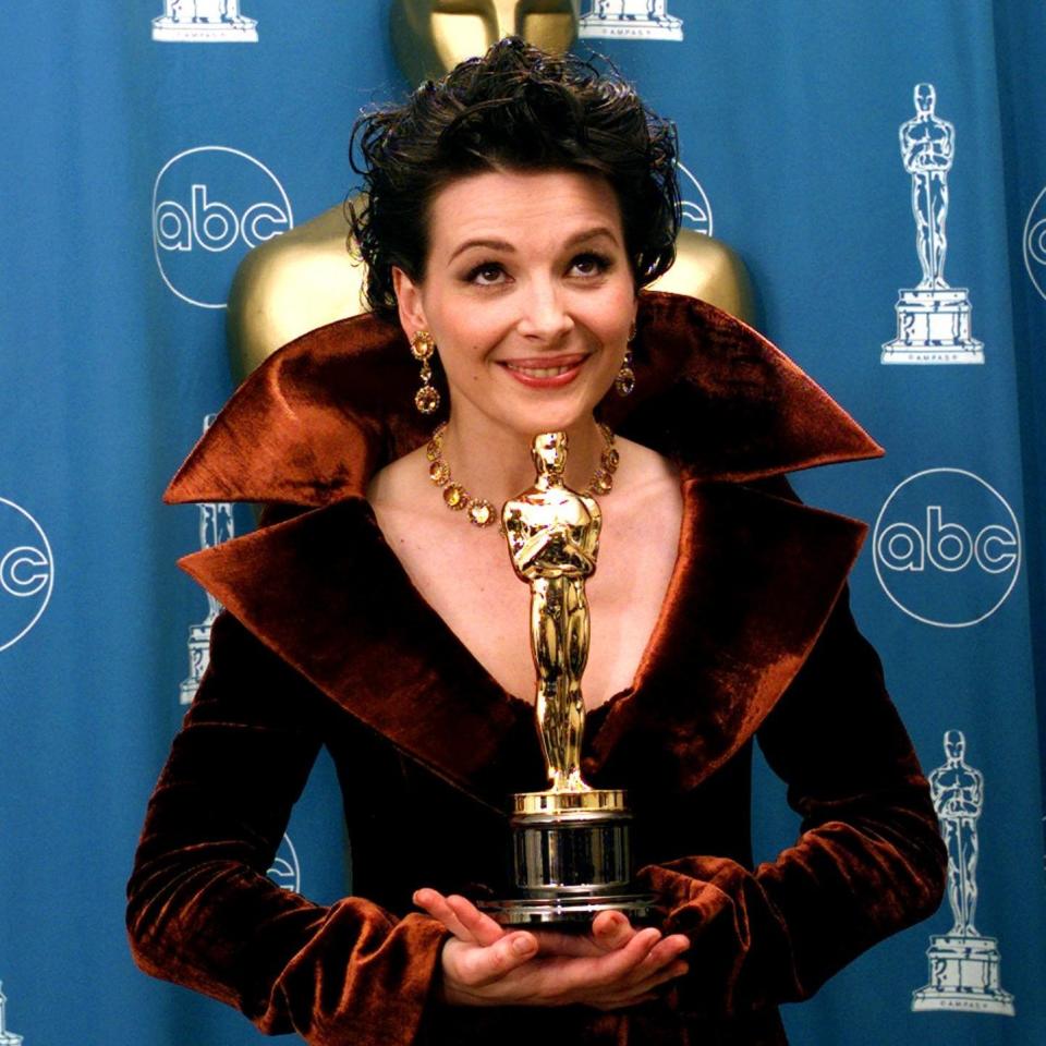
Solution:
{"label": "large matte gold statue standing behind the woman", "polygon": [[[378,33],[364,26],[361,46]],[[571,0],[390,0],[389,29],[411,84],[438,77],[504,36],[562,52],[577,35]],[[233,377],[241,381],[280,345],[337,319],[365,313],[365,270],[346,247],[341,204],[259,244],[236,270],[227,314]],[[654,290],[700,297],[753,321],[752,290],[741,259],[725,243],[680,231],[676,264]]]}

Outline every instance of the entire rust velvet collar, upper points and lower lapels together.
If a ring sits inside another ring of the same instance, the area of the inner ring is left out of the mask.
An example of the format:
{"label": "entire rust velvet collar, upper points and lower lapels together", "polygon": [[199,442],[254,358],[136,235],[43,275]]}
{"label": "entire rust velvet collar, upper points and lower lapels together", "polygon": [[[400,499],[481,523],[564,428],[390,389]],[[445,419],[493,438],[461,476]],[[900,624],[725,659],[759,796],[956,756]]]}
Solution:
{"label": "entire rust velvet collar, upper points and lower lapels together", "polygon": [[[586,770],[627,784],[633,752],[665,787],[690,788],[787,689],[864,536],[752,483],[881,451],[769,342],[695,300],[644,294],[635,355],[634,402],[608,401],[605,416],[680,462],[684,520],[633,691],[592,716]],[[379,321],[313,331],[241,387],[167,498],[314,509],[181,564],[353,716],[498,806],[543,784],[533,711],[421,597],[362,497],[376,467],[427,436],[415,385],[405,342]]]}

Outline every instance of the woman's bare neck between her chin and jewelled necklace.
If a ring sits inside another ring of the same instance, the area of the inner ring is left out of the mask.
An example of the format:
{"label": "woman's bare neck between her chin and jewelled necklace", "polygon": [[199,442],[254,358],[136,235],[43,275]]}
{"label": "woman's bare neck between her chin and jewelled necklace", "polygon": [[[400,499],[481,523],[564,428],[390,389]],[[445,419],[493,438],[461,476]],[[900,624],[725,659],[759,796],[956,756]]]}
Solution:
{"label": "woman's bare neck between her chin and jewelled necklace", "polygon": [[[518,433],[503,426],[472,425],[451,412],[443,435],[443,457],[454,479],[474,497],[500,507],[534,486],[531,443],[537,430]],[[603,453],[604,439],[589,415],[567,429],[569,453],[563,482],[585,490]],[[550,477],[542,477],[549,483]]]}

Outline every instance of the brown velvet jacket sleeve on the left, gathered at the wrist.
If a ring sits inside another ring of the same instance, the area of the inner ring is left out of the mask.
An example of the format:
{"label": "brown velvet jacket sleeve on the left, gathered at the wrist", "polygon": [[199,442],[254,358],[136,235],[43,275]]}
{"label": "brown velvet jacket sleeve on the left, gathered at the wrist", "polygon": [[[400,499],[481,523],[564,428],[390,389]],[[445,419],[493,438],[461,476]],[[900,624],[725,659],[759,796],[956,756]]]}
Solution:
{"label": "brown velvet jacket sleeve on the left, gathered at the wrist", "polygon": [[227,611],[149,801],[127,886],[138,965],[314,1046],[415,1039],[446,932],[267,876],[319,750],[308,683]]}

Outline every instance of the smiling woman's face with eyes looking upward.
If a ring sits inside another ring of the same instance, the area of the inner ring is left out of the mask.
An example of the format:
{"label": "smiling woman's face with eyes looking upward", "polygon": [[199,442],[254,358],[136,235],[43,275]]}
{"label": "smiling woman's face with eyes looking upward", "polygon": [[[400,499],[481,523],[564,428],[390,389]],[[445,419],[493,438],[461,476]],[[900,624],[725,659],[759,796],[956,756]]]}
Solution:
{"label": "smiling woman's face with eyes looking upward", "polygon": [[496,171],[431,200],[425,278],[393,269],[408,337],[427,329],[455,423],[527,438],[591,415],[621,366],[635,285],[609,183]]}

